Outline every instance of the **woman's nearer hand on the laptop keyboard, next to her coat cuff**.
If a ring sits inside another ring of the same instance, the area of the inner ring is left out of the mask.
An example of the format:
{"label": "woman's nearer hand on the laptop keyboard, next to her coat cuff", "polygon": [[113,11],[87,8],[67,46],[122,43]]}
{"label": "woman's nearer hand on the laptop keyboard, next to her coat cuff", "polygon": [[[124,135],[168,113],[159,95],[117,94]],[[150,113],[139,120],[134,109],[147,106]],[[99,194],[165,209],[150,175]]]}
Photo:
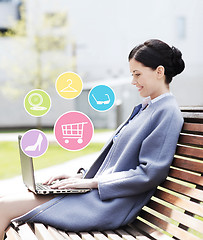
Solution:
{"label": "woman's nearer hand on the laptop keyboard, next to her coat cuff", "polygon": [[96,178],[81,179],[68,178],[54,183],[51,188],[73,189],[73,188],[98,188],[98,180]]}

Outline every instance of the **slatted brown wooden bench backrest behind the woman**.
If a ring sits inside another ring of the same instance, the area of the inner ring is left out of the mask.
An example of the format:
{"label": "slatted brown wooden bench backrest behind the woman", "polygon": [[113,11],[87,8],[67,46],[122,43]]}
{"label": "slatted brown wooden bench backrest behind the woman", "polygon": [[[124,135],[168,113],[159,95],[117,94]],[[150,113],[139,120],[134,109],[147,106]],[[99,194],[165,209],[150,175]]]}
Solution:
{"label": "slatted brown wooden bench backrest behind the woman", "polygon": [[149,239],[203,239],[203,108],[182,113],[169,175],[133,224]]}

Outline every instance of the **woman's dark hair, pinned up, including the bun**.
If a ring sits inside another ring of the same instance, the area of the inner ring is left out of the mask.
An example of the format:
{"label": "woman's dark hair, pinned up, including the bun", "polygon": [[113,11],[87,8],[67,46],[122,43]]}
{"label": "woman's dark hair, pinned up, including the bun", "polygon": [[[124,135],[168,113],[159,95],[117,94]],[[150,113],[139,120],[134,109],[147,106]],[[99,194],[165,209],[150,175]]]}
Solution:
{"label": "woman's dark hair, pinned up, including the bun", "polygon": [[151,39],[134,47],[128,56],[128,60],[130,61],[132,58],[154,70],[162,65],[165,68],[167,84],[185,68],[181,51],[158,39]]}

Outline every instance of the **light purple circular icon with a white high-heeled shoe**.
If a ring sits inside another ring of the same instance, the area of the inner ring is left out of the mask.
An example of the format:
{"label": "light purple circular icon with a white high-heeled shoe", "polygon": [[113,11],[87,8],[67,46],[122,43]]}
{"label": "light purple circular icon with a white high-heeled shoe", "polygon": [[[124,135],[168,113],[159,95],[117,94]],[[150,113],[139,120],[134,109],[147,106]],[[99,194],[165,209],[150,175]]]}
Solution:
{"label": "light purple circular icon with a white high-heeled shoe", "polygon": [[42,156],[48,148],[46,135],[38,130],[32,129],[24,133],[21,138],[21,149],[29,157]]}

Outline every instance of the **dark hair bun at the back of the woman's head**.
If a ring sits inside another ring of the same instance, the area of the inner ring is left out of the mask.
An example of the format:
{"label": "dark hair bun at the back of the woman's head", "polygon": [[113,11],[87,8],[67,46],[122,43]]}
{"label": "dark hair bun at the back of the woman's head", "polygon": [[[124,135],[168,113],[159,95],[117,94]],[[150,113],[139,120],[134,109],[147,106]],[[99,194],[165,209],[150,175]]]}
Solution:
{"label": "dark hair bun at the back of the woman's head", "polygon": [[181,51],[174,46],[172,46],[171,49],[172,49],[172,64],[174,67],[174,74],[173,74],[173,77],[174,77],[177,74],[180,74],[184,70],[185,63],[182,59]]}

